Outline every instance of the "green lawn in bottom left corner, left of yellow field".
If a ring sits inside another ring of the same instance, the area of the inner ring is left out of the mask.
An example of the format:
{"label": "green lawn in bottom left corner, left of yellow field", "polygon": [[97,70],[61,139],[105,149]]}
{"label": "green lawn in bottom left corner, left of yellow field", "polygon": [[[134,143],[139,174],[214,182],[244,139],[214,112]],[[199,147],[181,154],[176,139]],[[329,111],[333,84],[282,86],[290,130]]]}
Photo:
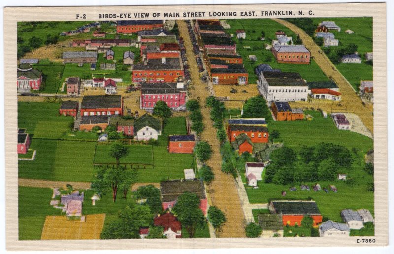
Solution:
{"label": "green lawn in bottom left corner, left of yellow field", "polygon": [[51,197],[51,189],[18,188],[19,240],[40,240],[45,217],[61,214],[49,204]]}

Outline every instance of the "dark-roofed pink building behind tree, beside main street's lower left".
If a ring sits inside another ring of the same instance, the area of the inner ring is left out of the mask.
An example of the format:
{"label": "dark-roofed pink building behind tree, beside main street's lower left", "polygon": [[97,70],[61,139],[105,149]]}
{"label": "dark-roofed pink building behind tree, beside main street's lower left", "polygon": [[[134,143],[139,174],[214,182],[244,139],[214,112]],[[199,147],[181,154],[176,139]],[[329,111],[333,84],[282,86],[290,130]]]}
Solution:
{"label": "dark-roofed pink building behind tree, beside main street's lower left", "polygon": [[171,180],[160,182],[163,210],[169,209],[178,201],[178,197],[185,192],[195,193],[200,198],[200,209],[206,214],[207,198],[204,183],[199,179]]}

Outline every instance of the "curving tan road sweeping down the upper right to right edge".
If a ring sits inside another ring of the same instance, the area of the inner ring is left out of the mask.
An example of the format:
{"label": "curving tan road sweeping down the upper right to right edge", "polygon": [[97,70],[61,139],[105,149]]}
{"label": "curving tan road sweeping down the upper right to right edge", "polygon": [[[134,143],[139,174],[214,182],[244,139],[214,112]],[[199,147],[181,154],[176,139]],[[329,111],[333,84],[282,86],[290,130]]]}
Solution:
{"label": "curving tan road sweeping down the upper right to right edge", "polygon": [[[314,57],[315,62],[319,65],[323,72],[328,77],[332,77],[332,80],[338,85],[342,93],[342,104],[346,105],[346,111],[358,115],[364,125],[373,133],[373,105],[362,105],[362,100],[358,95],[356,95],[352,85],[336,69],[335,65],[331,63],[326,54],[324,54],[322,49],[316,45],[316,43],[308,34],[288,21],[281,19],[273,20],[291,29],[296,34],[299,34],[303,44],[309,49],[311,55]],[[319,53],[319,51],[321,53]]]}

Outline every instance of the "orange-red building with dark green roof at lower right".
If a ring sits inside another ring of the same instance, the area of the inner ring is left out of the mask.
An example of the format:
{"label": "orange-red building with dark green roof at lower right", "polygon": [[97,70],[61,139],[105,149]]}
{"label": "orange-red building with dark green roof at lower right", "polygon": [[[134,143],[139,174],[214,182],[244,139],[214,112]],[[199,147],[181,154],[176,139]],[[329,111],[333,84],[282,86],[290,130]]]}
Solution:
{"label": "orange-red building with dark green roof at lower right", "polygon": [[283,225],[301,226],[302,219],[309,215],[313,219],[313,226],[323,221],[316,202],[313,200],[279,200],[269,204],[271,213],[282,214]]}

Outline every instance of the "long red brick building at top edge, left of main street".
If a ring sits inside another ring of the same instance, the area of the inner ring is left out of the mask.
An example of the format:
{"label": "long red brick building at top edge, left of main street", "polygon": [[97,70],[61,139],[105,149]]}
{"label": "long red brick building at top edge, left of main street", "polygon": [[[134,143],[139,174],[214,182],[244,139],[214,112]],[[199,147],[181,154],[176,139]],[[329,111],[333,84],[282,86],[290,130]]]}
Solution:
{"label": "long red brick building at top edge, left of main street", "polygon": [[116,33],[137,33],[163,27],[162,20],[121,20],[117,22]]}

